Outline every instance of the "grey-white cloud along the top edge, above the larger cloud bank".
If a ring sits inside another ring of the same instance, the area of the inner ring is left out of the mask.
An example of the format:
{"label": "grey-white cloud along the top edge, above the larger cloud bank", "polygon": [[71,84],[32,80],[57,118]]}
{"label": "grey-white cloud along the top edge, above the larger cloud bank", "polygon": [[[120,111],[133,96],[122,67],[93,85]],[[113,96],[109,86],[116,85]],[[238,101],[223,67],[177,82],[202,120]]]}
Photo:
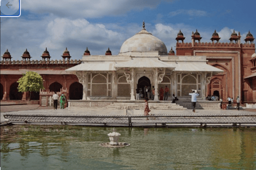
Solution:
{"label": "grey-white cloud along the top edge, above the larger cloud bank", "polygon": [[22,0],[22,9],[35,13],[51,13],[60,17],[94,18],[105,15],[122,15],[131,10],[154,8],[161,1],[154,0]]}

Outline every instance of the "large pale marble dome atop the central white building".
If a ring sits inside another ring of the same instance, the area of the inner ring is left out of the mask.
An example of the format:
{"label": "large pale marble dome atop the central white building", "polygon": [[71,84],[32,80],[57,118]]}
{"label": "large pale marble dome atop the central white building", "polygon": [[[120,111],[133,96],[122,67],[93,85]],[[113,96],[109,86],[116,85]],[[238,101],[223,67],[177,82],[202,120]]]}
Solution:
{"label": "large pale marble dome atop the central white building", "polygon": [[167,48],[163,41],[142,29],[131,38],[124,41],[120,53],[126,52],[151,52],[158,51],[161,55],[167,55]]}

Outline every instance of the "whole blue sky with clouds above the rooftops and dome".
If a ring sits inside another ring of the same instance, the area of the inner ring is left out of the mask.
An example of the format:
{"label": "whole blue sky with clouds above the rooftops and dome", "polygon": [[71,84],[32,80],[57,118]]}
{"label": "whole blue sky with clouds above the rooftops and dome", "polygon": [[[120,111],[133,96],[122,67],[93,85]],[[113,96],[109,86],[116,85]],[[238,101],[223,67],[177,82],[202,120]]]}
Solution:
{"label": "whole blue sky with clouds above the rooftops and dome", "polygon": [[60,60],[66,47],[73,60],[86,47],[91,55],[105,55],[108,47],[117,55],[143,20],[168,51],[175,50],[180,29],[185,43],[196,29],[201,42],[210,42],[214,30],[228,42],[235,30],[244,43],[249,30],[256,37],[255,6],[255,0],[22,0],[19,18],[1,18],[1,56],[9,49],[12,60],[21,60],[27,48],[31,60],[41,60],[45,47],[51,60]]}

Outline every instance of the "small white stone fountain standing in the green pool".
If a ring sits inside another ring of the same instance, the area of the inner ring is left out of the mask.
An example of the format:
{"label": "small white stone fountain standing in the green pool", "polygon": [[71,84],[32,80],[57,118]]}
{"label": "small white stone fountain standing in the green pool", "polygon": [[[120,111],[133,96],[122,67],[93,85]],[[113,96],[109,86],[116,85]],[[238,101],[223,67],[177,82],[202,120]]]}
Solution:
{"label": "small white stone fountain standing in the green pool", "polygon": [[112,133],[108,133],[110,142],[100,143],[100,146],[106,147],[106,148],[122,148],[122,147],[130,146],[130,143],[118,142],[120,135],[121,135],[120,133],[115,132],[115,128],[114,128]]}

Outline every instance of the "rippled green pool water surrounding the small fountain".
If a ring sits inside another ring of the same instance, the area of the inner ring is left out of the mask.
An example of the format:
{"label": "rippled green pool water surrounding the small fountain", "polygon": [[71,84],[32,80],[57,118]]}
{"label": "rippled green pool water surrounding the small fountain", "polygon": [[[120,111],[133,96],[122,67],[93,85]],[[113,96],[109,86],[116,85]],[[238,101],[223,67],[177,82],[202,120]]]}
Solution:
{"label": "rippled green pool water surrounding the small fountain", "polygon": [[2,169],[256,169],[256,129],[2,126]]}

